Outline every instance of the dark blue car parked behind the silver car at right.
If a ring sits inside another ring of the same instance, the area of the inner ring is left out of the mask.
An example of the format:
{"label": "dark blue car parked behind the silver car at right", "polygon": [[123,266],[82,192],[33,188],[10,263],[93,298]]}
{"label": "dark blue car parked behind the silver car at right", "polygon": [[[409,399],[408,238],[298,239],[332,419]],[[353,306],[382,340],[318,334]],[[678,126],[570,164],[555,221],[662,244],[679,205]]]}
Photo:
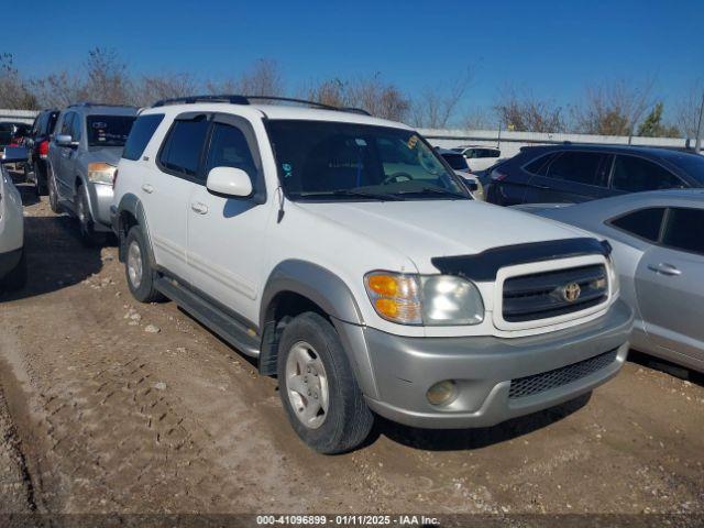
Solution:
{"label": "dark blue car parked behind the silver car at right", "polygon": [[608,196],[704,187],[704,156],[618,145],[544,145],[492,167],[486,200],[501,206],[576,204]]}

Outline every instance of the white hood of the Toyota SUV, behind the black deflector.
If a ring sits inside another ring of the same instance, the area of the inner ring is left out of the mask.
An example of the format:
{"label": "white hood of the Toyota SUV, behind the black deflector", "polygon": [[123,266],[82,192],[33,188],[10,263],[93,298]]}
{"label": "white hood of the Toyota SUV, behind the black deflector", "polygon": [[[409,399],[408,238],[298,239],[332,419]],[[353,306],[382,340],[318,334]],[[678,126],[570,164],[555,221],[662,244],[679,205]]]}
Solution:
{"label": "white hood of the Toyota SUV, behind the black deflector", "polygon": [[437,272],[430,263],[435,256],[470,255],[503,245],[585,235],[535,215],[474,200],[298,205],[403,253],[421,273]]}

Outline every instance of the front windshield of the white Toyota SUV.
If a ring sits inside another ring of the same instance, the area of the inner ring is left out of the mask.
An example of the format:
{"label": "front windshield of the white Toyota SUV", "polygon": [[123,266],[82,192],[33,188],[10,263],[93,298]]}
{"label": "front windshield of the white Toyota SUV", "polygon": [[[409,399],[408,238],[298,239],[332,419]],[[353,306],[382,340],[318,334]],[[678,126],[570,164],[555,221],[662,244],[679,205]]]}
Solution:
{"label": "front windshield of the white Toyota SUV", "polygon": [[416,132],[295,120],[267,131],[293,200],[471,199]]}

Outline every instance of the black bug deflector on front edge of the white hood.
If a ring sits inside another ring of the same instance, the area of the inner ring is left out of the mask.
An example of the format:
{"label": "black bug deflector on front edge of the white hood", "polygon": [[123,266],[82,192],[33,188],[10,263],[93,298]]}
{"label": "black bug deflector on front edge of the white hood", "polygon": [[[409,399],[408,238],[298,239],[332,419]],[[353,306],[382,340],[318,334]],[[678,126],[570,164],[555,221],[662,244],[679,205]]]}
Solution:
{"label": "black bug deflector on front edge of the white hood", "polygon": [[436,256],[430,262],[443,275],[490,282],[496,279],[496,272],[506,266],[594,254],[608,256],[610,252],[612,246],[605,240],[580,238],[504,245],[476,255]]}

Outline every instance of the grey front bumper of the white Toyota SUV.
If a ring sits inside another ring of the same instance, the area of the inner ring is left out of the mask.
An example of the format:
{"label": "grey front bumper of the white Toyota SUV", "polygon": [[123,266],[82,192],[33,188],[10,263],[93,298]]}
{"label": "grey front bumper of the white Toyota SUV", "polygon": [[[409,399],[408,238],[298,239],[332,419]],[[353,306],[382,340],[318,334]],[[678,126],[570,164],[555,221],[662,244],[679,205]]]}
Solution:
{"label": "grey front bumper of the white Toyota SUV", "polygon": [[[377,414],[414,427],[493,426],[573,399],[615,376],[628,353],[631,326],[630,308],[618,300],[595,321],[527,338],[405,338],[361,328],[377,389],[377,397],[365,397]],[[594,372],[509,397],[512,380],[558,372],[609,351],[615,358]],[[426,392],[444,380],[457,382],[458,397],[435,407]]]}

